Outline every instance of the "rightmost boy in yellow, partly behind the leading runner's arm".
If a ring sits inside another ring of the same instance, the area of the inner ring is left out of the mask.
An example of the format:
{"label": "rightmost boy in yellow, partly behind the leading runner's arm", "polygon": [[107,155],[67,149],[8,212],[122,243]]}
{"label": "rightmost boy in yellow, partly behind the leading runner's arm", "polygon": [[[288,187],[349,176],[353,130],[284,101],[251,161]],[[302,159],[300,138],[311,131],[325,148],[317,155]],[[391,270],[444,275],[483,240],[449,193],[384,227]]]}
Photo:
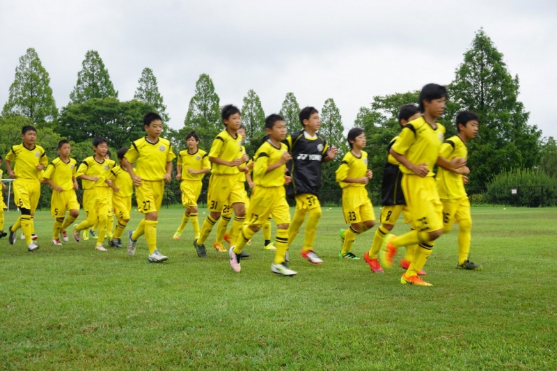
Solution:
{"label": "rightmost boy in yellow, partly behind the leading runner's arm", "polygon": [[[480,119],[476,113],[462,111],[457,114],[458,134],[451,136],[441,144],[441,156],[446,159],[453,157],[468,158],[466,143],[478,135]],[[470,212],[470,201],[464,182],[468,181],[466,175],[470,173],[467,166],[456,171],[446,170],[439,167],[437,171],[437,187],[439,198],[443,204],[443,232],[448,233],[453,228],[453,223],[458,223],[458,264],[457,268],[470,271],[479,271],[482,265],[474,264],[468,260],[470,253],[472,216]]]}

